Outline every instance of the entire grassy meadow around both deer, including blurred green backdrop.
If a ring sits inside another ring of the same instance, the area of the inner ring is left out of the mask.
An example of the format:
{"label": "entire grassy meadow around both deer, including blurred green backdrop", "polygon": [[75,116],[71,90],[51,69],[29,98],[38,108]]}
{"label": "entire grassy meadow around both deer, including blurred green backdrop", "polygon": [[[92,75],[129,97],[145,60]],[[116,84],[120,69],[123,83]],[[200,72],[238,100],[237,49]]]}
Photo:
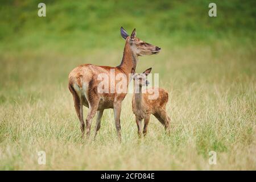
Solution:
{"label": "entire grassy meadow around both deer, including blurred green backdrop", "polygon": [[[207,0],[45,0],[41,18],[39,2],[0,2],[0,169],[256,169],[254,1],[216,1],[214,18]],[[171,134],[152,116],[147,137],[138,139],[127,94],[122,143],[110,109],[96,140],[82,140],[68,74],[84,63],[118,65],[121,26],[162,48],[140,57],[137,72],[159,73]],[[46,152],[45,165],[38,151]]]}

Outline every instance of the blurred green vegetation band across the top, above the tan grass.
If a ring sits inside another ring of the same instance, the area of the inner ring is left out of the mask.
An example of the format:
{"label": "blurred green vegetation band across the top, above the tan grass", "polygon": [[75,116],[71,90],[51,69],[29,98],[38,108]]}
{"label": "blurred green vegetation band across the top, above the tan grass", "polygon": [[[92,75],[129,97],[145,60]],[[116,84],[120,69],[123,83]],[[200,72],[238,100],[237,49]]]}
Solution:
{"label": "blurred green vegetation band across the top, above the tan grass", "polygon": [[[92,48],[123,46],[119,28],[160,46],[228,40],[255,42],[256,2],[214,1],[217,17],[209,17],[210,0],[196,1],[50,1],[46,17],[38,17],[34,0],[0,2],[0,53],[54,51],[80,53]],[[235,38],[235,39],[234,39]]]}

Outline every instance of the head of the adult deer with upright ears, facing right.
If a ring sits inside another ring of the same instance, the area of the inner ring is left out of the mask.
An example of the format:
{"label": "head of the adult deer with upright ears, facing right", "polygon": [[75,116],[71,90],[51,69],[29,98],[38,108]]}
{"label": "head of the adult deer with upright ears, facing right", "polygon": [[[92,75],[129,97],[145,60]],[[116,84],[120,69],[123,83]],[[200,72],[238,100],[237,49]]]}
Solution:
{"label": "head of the adult deer with upright ears, facing right", "polygon": [[133,51],[133,53],[137,56],[154,55],[160,52],[160,47],[146,43],[143,40],[137,38],[135,28],[131,33],[131,36],[129,36],[125,29],[121,27],[121,36],[123,39],[129,41],[131,51]]}

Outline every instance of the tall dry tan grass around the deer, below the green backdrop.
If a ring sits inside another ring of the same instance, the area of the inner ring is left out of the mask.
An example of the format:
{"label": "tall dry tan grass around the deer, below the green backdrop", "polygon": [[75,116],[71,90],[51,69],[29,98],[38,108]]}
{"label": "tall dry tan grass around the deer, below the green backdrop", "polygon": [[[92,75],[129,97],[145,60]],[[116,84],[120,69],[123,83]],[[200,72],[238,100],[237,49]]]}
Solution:
{"label": "tall dry tan grass around the deer, below the green backdrop", "polygon": [[[159,73],[159,86],[170,94],[171,134],[166,136],[152,116],[147,137],[138,139],[128,94],[121,144],[112,110],[104,111],[95,141],[80,139],[67,77],[81,63],[118,65],[122,48],[75,57],[25,51],[1,55],[0,169],[255,170],[254,46],[162,49],[142,57],[137,72],[152,67]],[[84,107],[84,115],[87,111]],[[95,118],[92,133],[94,127]],[[46,165],[38,164],[42,150]],[[216,165],[209,165],[209,151],[217,152]]]}

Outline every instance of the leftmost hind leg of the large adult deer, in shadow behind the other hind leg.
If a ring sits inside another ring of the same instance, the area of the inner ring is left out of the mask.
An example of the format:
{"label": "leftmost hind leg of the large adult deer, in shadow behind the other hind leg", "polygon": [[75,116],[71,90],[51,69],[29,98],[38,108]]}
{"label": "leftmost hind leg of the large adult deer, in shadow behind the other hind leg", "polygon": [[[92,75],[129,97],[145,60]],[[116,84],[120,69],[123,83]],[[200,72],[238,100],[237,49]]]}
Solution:
{"label": "leftmost hind leg of the large adult deer, in shadow behind the other hind leg", "polygon": [[83,117],[83,113],[82,113],[82,99],[79,98],[78,94],[76,93],[76,91],[73,89],[73,87],[71,85],[69,85],[69,90],[71,91],[71,93],[73,95],[74,106],[75,106],[77,117],[79,118],[79,121],[80,121],[80,129],[81,129],[82,138],[83,138],[85,125],[84,125],[84,117]]}

